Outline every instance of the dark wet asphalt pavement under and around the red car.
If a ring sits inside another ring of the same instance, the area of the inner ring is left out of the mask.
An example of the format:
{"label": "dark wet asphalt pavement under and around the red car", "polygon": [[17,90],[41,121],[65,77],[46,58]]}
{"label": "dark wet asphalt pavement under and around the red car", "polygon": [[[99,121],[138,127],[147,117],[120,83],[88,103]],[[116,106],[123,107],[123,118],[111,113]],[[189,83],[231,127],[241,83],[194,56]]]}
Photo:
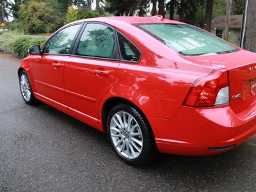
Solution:
{"label": "dark wet asphalt pavement under and around the red car", "polygon": [[[207,157],[116,157],[106,134],[19,92],[20,59],[0,53],[0,191],[256,191],[256,136]],[[198,122],[199,123],[199,122]]]}

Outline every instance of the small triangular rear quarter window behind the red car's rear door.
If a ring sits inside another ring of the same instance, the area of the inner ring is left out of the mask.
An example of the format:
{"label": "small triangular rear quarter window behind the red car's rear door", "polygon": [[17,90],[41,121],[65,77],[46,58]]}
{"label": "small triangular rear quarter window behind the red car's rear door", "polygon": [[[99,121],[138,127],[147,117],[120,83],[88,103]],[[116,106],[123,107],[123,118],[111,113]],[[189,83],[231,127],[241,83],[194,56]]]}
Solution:
{"label": "small triangular rear quarter window behind the red car's rear door", "polygon": [[139,61],[141,52],[123,35],[118,33],[119,48],[122,55],[122,59],[125,61]]}

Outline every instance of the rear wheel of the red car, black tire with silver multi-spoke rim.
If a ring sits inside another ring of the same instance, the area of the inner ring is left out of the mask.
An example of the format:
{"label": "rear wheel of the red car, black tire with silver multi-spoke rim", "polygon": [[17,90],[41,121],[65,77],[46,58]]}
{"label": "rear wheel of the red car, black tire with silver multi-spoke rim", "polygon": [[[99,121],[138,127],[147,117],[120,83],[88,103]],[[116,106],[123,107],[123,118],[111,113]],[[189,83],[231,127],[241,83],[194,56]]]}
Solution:
{"label": "rear wheel of the red car, black tire with silver multi-spoke rim", "polygon": [[145,116],[134,106],[120,103],[107,119],[107,134],[117,156],[131,165],[148,163],[156,154],[156,143]]}

